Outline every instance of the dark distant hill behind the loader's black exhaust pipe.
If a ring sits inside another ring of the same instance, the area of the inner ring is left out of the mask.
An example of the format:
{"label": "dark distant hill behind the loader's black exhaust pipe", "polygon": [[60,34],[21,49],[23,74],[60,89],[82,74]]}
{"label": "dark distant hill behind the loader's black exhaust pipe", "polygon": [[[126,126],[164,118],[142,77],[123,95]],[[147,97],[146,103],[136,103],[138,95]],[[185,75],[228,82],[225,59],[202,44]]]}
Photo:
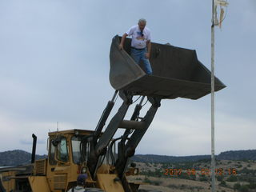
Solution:
{"label": "dark distant hill behind the loader's black exhaust pipe", "polygon": [[[36,155],[35,159],[47,158],[47,155]],[[24,150],[0,152],[0,166],[19,166],[30,164],[31,154]]]}

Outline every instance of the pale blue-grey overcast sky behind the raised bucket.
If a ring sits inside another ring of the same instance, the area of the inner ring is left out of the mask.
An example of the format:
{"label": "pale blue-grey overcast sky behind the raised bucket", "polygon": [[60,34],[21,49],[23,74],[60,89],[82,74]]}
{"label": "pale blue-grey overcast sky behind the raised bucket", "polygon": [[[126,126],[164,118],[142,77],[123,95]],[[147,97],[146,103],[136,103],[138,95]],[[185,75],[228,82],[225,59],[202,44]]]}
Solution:
{"label": "pale blue-grey overcast sky behind the raised bucket", "polygon": [[[215,28],[215,74],[227,86],[215,96],[216,154],[256,149],[256,1],[229,3]],[[210,69],[211,0],[0,0],[0,151],[30,152],[34,133],[37,153],[46,154],[57,122],[60,130],[94,130],[114,94],[111,39],[138,18],[153,42],[196,50]],[[136,150],[210,153],[210,95],[163,100]]]}

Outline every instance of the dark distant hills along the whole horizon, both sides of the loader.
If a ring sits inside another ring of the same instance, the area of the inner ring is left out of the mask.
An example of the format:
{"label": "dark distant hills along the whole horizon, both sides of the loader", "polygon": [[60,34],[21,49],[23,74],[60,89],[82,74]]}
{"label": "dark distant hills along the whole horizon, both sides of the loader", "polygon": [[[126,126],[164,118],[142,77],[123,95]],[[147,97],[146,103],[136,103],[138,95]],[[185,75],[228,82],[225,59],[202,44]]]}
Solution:
{"label": "dark distant hills along the whole horizon, both sides of the loader", "polygon": [[[47,155],[36,155],[36,159],[47,158]],[[219,160],[256,160],[256,150],[230,150],[216,155]],[[136,154],[134,162],[197,162],[210,159],[210,155],[166,156],[156,154]],[[29,164],[31,154],[24,150],[0,152],[0,166],[18,166]]]}

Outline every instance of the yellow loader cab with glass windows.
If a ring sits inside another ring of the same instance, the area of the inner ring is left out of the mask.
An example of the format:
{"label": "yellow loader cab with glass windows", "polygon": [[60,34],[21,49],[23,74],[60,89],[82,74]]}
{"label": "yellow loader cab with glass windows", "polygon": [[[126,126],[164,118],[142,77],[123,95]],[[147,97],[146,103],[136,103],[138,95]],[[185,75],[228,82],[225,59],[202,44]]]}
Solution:
{"label": "yellow loader cab with glass windows", "polygon": [[51,191],[66,191],[76,184],[84,165],[80,143],[90,130],[63,130],[50,132],[48,138],[48,162],[46,178]]}

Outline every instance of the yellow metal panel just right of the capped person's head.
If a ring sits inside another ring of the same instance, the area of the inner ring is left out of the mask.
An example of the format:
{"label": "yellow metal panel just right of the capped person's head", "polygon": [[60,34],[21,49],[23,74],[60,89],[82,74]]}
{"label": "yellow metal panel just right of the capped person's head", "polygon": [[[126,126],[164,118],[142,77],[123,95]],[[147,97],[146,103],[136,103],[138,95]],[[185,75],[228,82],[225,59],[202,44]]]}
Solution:
{"label": "yellow metal panel just right of the capped person's head", "polygon": [[120,181],[114,181],[118,178],[117,174],[97,174],[98,185],[102,190],[106,192],[125,192],[122,188],[122,183]]}

